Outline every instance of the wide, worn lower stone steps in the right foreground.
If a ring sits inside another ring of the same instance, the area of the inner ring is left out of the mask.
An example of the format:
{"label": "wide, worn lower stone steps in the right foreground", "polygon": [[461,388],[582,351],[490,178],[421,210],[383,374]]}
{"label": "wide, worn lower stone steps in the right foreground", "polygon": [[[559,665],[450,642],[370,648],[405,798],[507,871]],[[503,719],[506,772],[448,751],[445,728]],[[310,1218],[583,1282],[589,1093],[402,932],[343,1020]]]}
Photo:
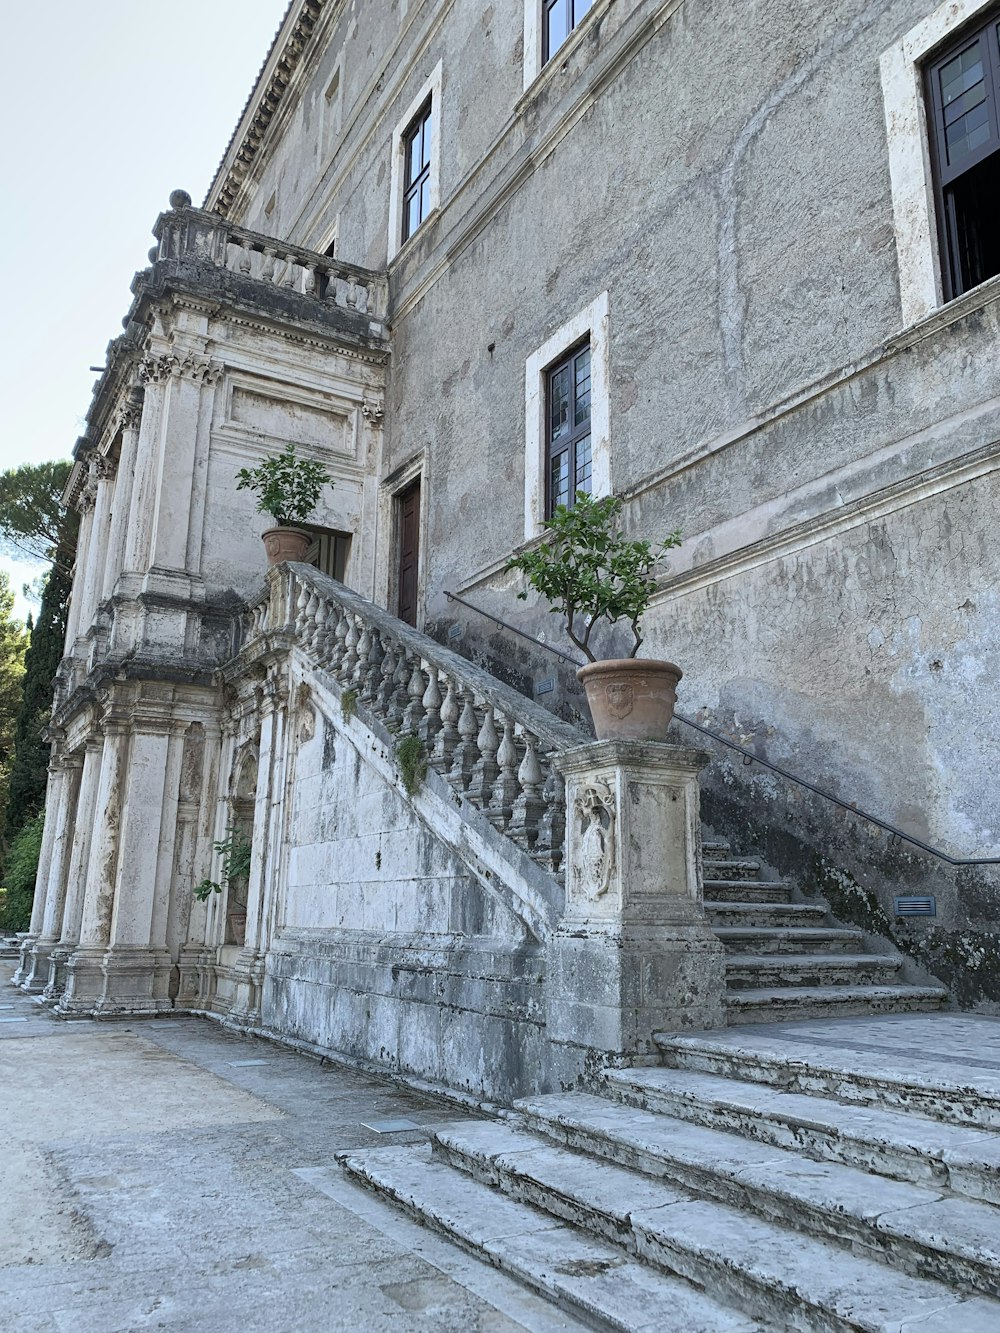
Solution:
{"label": "wide, worn lower stone steps in the right foreground", "polygon": [[609,1070],[596,1093],[341,1162],[595,1328],[1000,1329],[1000,1024],[660,1046],[667,1066]]}

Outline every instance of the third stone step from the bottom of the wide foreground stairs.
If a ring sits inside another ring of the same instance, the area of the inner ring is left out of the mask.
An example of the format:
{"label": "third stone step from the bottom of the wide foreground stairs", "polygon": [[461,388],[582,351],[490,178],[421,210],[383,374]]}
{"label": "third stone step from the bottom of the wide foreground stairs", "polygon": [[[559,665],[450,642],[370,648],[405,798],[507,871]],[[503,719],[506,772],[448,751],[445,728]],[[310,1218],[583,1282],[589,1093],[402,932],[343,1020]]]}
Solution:
{"label": "third stone step from the bottom of the wide foreground stairs", "polygon": [[1000,1210],[988,1204],[873,1178],[589,1093],[524,1098],[516,1106],[527,1128],[561,1146],[853,1248],[912,1277],[1000,1296]]}

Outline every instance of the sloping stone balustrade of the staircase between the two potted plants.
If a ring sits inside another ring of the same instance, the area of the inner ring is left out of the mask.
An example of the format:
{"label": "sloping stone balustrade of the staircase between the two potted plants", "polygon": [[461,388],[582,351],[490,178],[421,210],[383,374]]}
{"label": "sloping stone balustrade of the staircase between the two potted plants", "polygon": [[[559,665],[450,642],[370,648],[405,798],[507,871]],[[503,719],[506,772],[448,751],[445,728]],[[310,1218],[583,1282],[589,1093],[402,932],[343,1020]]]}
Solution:
{"label": "sloping stone balustrade of the staircase between the two potted plants", "polygon": [[427,764],[545,870],[565,845],[565,782],[553,757],[588,740],[457,653],[319,573],[291,564],[249,607],[243,643],[291,635],[360,709],[420,737]]}

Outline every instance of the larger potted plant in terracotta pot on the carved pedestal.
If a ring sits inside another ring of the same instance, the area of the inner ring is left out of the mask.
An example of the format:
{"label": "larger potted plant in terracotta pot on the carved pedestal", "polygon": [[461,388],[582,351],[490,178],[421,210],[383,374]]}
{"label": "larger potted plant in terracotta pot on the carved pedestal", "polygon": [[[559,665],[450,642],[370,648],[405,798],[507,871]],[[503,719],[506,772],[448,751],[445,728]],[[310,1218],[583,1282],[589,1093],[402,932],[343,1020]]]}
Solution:
{"label": "larger potted plant in terracotta pot on the carved pedestal", "polygon": [[[643,644],[641,620],[656,583],[652,571],[664,552],[680,545],[680,532],[659,545],[631,541],[621,533],[621,500],[595,500],[577,491],[572,509],[557,505],[544,524],[548,540],[507,561],[527,575],[532,588],[563,616],[568,637],[588,659],[576,673],[587,692],[599,740],[667,740],[681,670],[668,661],[636,655]],[[527,591],[517,595],[527,599]],[[628,657],[599,661],[591,648],[603,621],[632,628]]]}

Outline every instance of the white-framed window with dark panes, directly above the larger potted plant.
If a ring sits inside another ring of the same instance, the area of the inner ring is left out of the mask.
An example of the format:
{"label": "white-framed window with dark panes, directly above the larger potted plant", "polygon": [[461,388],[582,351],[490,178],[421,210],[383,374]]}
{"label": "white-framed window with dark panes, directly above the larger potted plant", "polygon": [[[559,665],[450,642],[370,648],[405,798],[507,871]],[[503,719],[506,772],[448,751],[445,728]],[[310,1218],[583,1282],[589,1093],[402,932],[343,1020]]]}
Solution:
{"label": "white-framed window with dark panes, directly above the larger potted plant", "polygon": [[608,293],[601,292],[524,363],[524,540],[577,491],[608,496]]}

